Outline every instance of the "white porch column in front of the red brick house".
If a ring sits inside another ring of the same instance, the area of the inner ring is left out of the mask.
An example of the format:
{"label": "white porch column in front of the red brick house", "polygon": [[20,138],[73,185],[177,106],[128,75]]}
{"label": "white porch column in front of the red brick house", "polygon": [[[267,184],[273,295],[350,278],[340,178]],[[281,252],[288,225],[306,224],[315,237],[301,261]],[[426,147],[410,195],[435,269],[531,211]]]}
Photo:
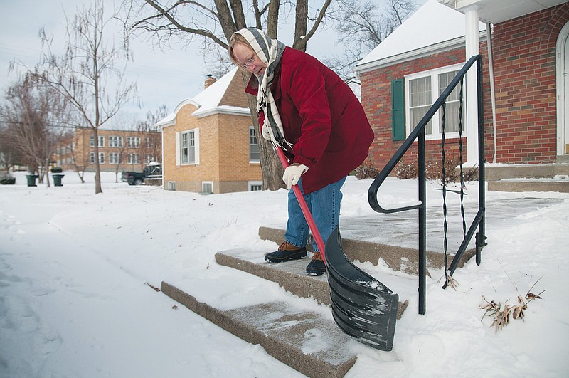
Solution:
{"label": "white porch column in front of the red brick house", "polygon": [[[466,60],[480,53],[478,36],[478,9],[476,5],[465,8],[466,16]],[[466,75],[466,125],[467,125],[467,162],[478,162],[478,121],[477,121],[477,80],[476,65]]]}

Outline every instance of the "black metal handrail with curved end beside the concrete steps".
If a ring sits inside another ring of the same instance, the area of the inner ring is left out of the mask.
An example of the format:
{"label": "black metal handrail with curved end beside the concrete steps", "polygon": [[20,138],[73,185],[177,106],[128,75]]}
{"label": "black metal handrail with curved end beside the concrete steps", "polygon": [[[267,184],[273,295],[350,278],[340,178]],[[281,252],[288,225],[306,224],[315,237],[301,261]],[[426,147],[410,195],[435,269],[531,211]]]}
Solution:
{"label": "black metal handrail with curved end beside the concrete steps", "polygon": [[[484,247],[484,213],[485,213],[485,182],[484,182],[484,108],[482,101],[482,56],[477,55],[470,58],[467,63],[459,70],[456,76],[449,83],[447,88],[441,93],[439,98],[435,103],[427,110],[427,113],[420,120],[418,125],[410,132],[409,136],[405,139],[403,144],[399,147],[397,152],[391,157],[389,162],[385,164],[385,167],[378,174],[376,179],[373,180],[369,190],[368,190],[368,202],[371,208],[380,213],[390,214],[398,211],[406,211],[412,209],[418,209],[419,211],[419,313],[425,314],[425,284],[427,275],[427,207],[426,207],[426,148],[425,148],[425,127],[427,123],[435,116],[437,110],[446,103],[446,100],[452,90],[454,90],[459,83],[462,83],[464,76],[467,74],[468,70],[477,63],[477,106],[478,106],[478,180],[479,180],[479,199],[478,199],[478,212],[474,216],[472,224],[469,226],[468,231],[465,233],[461,245],[457,253],[450,264],[448,271],[449,275],[454,273],[457,268],[460,259],[462,258],[466,248],[474,235],[476,228],[478,227],[478,233],[476,238],[476,262],[480,264],[480,256],[482,248]],[[387,177],[395,169],[395,165],[400,161],[405,152],[413,145],[415,140],[418,140],[418,203],[408,206],[401,206],[393,209],[385,209],[378,203],[378,191],[381,184],[387,179]],[[462,172],[461,172],[462,174]],[[446,183],[443,182],[443,185]]]}

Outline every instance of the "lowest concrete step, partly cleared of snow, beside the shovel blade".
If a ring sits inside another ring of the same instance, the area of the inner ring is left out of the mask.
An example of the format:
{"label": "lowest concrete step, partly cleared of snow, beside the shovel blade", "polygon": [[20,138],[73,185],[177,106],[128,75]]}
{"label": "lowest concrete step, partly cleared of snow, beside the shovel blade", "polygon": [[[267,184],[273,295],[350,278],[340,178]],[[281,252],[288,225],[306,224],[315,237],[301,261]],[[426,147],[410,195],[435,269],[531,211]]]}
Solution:
{"label": "lowest concrete step, partly cleared of snow, beside the shovel blade", "polygon": [[[218,310],[163,282],[161,290],[194,313],[313,378],[344,377],[356,362],[350,341],[334,321],[318,313],[273,302]],[[317,339],[318,342],[314,342]]]}

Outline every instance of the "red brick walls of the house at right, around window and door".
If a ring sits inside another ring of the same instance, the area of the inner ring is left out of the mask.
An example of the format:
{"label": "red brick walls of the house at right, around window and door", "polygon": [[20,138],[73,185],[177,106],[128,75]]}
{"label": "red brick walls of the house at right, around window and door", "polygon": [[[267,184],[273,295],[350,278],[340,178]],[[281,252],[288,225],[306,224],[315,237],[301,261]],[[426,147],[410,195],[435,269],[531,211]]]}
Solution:
{"label": "red brick walls of the house at right, around window and door", "polygon": [[[555,161],[555,43],[569,20],[569,3],[494,26],[496,88],[496,161],[505,163]],[[489,68],[483,56],[484,136],[486,161],[494,156]],[[361,73],[361,99],[376,138],[369,161],[381,169],[402,142],[392,140],[391,80],[410,73],[463,63],[464,48]],[[476,127],[476,126],[474,126]],[[447,140],[447,157],[458,157],[458,140]],[[464,145],[464,150],[466,149]],[[403,161],[416,159],[412,147]],[[440,159],[440,141],[427,142],[427,159]]]}

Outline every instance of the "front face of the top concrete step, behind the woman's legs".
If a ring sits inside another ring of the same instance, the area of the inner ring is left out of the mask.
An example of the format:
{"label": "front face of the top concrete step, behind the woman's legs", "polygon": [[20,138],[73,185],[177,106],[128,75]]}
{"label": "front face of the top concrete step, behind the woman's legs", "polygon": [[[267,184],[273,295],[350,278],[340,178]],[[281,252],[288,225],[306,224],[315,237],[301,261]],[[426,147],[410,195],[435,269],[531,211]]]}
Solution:
{"label": "front face of the top concrete step, behind the woman's legs", "polygon": [[[277,244],[285,240],[285,230],[272,229],[270,227],[260,227],[259,236],[263,240],[274,241]],[[419,254],[417,249],[406,248],[401,246],[390,246],[381,243],[372,243],[369,241],[342,238],[342,246],[344,253],[351,261],[370,262],[377,265],[380,258],[387,263],[389,268],[394,271],[403,271],[404,273],[418,275],[419,271]],[[312,241],[307,243],[307,249],[312,251]],[[464,263],[474,256],[476,251],[469,249],[464,252],[459,262],[462,268]],[[452,261],[450,256],[450,260]],[[429,268],[441,269],[445,266],[445,255],[440,252],[427,251],[427,274]]]}

